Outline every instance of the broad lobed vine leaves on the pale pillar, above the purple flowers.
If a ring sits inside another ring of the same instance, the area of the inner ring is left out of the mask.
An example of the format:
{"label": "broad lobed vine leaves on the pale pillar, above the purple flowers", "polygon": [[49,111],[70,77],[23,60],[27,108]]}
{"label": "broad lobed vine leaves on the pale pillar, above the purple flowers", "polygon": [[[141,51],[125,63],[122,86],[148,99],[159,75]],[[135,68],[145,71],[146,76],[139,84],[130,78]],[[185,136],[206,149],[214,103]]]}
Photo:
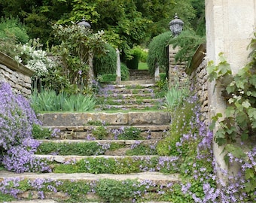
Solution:
{"label": "broad lobed vine leaves on the pale pillar, above the purple flowers", "polygon": [[[221,114],[212,117],[213,125],[219,123],[220,129],[216,132],[215,141],[219,145],[236,142],[237,135],[246,141],[256,132],[256,77],[253,63],[248,63],[244,68],[232,76],[230,65],[224,59],[223,53],[220,54],[220,63],[213,65],[209,63],[209,80],[218,80],[224,86],[224,95],[227,95],[228,107],[225,111],[226,117],[219,122]],[[237,129],[238,128],[238,129]]]}

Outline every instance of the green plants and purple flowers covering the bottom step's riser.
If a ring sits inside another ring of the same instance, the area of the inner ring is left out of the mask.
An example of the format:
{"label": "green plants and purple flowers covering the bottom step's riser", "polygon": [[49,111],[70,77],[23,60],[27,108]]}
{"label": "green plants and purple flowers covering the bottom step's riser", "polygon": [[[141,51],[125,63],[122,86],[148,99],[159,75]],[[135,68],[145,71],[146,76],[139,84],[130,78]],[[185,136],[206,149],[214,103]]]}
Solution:
{"label": "green plants and purple flowers covering the bottom step's riser", "polygon": [[[151,201],[160,194],[173,195],[178,193],[178,184],[167,186],[157,185],[151,180],[111,180],[72,181],[72,180],[26,180],[20,178],[5,178],[0,183],[0,201],[12,201],[23,192],[44,199],[60,193],[62,202],[140,202]],[[93,198],[90,197],[93,195]],[[178,195],[177,195],[178,196]],[[177,198],[176,198],[177,199]],[[177,201],[178,202],[178,201]],[[179,201],[184,202],[184,201]]]}

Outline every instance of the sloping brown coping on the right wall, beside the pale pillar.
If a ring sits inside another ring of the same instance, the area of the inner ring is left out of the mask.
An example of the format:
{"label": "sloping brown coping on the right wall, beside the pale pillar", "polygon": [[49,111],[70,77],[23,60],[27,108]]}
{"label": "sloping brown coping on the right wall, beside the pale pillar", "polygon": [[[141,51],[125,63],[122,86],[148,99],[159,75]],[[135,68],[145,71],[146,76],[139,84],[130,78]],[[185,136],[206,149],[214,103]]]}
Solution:
{"label": "sloping brown coping on the right wall, beside the pale pillar", "polygon": [[190,63],[190,67],[186,68],[186,73],[191,74],[203,61],[203,58],[206,56],[206,44],[200,44],[197,47],[196,52],[194,53],[194,56],[192,58],[192,61]]}

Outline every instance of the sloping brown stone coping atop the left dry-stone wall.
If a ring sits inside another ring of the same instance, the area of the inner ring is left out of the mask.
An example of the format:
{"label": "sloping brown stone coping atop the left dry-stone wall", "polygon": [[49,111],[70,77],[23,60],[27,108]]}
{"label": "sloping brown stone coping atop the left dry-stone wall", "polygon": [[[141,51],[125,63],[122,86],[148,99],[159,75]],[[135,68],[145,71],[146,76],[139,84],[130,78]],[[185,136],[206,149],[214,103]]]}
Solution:
{"label": "sloping brown stone coping atop the left dry-stone wall", "polygon": [[30,70],[29,68],[26,68],[25,65],[20,64],[19,62],[15,61],[10,56],[6,55],[5,53],[2,53],[1,51],[0,51],[0,63],[2,63],[3,65],[6,65],[8,68],[10,68],[13,71],[20,72],[29,77],[31,77],[34,74],[34,71]]}

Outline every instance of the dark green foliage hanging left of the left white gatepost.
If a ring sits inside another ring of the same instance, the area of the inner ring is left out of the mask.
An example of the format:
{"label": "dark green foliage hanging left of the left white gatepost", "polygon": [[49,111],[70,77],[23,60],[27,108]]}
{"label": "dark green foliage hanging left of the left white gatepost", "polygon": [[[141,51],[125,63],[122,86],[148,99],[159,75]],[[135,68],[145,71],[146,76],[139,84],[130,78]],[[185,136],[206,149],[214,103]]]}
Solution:
{"label": "dark green foliage hanging left of the left white gatepost", "polygon": [[117,69],[117,53],[110,44],[105,44],[106,53],[102,56],[95,56],[93,68],[96,75],[114,74]]}

